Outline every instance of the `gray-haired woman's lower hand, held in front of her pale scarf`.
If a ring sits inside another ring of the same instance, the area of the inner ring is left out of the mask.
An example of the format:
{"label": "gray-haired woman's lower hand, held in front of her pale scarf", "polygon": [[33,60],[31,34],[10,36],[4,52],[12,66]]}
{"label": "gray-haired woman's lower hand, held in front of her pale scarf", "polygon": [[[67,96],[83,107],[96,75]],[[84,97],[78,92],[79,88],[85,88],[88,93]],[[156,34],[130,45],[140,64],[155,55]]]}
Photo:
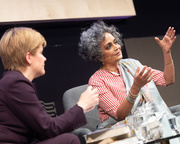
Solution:
{"label": "gray-haired woman's lower hand, held in front of her pale scarf", "polygon": [[152,80],[151,77],[151,68],[149,68],[146,72],[147,66],[144,66],[143,69],[140,71],[140,67],[137,68],[135,75],[134,75],[134,83],[133,89],[136,89],[137,93],[145,84],[149,83]]}

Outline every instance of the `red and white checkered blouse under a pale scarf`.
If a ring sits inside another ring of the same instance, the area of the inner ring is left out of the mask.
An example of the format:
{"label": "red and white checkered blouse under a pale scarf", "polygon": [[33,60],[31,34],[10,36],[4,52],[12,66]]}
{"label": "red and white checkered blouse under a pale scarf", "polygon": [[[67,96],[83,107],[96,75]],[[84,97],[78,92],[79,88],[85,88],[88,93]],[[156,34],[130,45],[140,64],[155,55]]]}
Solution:
{"label": "red and white checkered blouse under a pale scarf", "polygon": [[[109,118],[109,115],[117,118],[117,108],[126,98],[126,86],[120,65],[117,68],[120,74],[98,70],[89,79],[89,85],[97,88],[99,93],[98,110],[101,122]],[[152,69],[152,78],[156,85],[166,86],[163,72]]]}

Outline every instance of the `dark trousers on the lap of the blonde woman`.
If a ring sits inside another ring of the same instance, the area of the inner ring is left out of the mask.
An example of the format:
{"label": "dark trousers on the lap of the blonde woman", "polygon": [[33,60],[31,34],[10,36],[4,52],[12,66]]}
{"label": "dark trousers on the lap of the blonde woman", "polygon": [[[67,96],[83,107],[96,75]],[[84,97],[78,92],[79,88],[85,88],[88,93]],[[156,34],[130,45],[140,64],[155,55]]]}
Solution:
{"label": "dark trousers on the lap of the blonde woman", "polygon": [[71,133],[64,133],[59,136],[37,142],[34,144],[81,144],[79,138]]}

